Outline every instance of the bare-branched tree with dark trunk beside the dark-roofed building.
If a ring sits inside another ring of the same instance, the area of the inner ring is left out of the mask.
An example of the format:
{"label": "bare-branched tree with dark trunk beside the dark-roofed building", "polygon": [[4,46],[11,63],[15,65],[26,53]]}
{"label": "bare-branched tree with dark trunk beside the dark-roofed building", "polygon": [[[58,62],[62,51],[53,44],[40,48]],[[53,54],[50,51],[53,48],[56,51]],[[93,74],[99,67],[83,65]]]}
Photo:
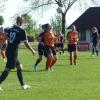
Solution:
{"label": "bare-branched tree with dark trunk beside the dark-roofed building", "polygon": [[52,8],[51,5],[56,5],[60,9],[60,14],[62,15],[62,33],[65,34],[65,23],[66,23],[66,14],[67,12],[74,6],[78,8],[87,9],[90,5],[99,4],[99,0],[24,0],[29,1],[29,9],[27,9],[27,13],[41,9],[47,10],[48,7]]}

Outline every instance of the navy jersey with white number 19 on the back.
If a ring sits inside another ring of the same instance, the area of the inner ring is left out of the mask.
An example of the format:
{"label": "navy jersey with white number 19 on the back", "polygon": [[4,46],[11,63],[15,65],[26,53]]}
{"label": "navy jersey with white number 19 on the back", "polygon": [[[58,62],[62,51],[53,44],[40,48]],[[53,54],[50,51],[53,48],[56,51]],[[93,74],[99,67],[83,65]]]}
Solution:
{"label": "navy jersey with white number 19 on the back", "polygon": [[16,50],[21,41],[27,40],[27,36],[25,31],[18,27],[13,26],[12,28],[7,30],[8,33],[8,50]]}

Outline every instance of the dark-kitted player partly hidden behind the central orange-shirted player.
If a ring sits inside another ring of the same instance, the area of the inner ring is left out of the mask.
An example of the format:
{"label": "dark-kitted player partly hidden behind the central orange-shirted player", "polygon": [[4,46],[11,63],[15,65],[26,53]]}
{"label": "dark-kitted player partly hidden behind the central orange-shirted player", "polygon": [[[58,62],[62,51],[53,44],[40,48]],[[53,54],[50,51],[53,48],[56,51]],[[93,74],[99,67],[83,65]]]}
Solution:
{"label": "dark-kitted player partly hidden behind the central orange-shirted player", "polygon": [[41,62],[42,60],[42,55],[46,56],[45,53],[45,47],[44,47],[44,39],[43,39],[43,35],[45,33],[45,25],[42,25],[42,30],[43,32],[41,32],[38,36],[38,59],[36,60],[36,63],[34,64],[34,71],[37,71],[37,65]]}

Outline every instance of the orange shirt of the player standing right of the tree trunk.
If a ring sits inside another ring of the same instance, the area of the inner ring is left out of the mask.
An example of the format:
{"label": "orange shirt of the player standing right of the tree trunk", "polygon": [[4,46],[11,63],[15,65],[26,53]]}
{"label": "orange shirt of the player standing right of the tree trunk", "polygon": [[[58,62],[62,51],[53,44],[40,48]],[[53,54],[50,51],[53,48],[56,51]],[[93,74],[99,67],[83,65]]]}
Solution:
{"label": "orange shirt of the player standing right of the tree trunk", "polygon": [[78,41],[78,32],[70,31],[67,34],[68,44],[77,44]]}

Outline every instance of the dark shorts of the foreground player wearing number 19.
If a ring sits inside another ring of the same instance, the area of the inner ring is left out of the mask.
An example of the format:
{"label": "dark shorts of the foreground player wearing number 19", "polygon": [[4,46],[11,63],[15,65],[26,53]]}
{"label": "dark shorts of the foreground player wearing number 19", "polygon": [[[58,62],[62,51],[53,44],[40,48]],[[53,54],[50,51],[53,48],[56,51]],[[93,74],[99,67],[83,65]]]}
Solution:
{"label": "dark shorts of the foreground player wearing number 19", "polygon": [[18,52],[9,52],[6,51],[6,56],[7,56],[7,63],[6,67],[9,69],[14,69],[16,66],[19,66],[21,63],[17,58]]}

